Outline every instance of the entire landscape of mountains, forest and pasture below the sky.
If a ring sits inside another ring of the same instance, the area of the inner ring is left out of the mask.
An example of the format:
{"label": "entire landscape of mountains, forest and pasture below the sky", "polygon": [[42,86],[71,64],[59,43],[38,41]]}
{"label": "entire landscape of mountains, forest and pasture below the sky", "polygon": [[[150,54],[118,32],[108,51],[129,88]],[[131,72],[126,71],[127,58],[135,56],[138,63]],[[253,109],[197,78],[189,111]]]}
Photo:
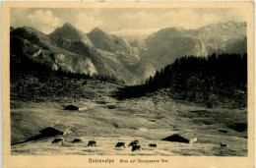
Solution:
{"label": "entire landscape of mountains, forest and pasture below the sky", "polygon": [[[68,23],[10,34],[13,155],[247,156],[246,23],[162,28],[143,39]],[[40,137],[49,127],[67,134]],[[184,132],[197,141],[163,140]],[[131,151],[132,140],[141,150]]]}

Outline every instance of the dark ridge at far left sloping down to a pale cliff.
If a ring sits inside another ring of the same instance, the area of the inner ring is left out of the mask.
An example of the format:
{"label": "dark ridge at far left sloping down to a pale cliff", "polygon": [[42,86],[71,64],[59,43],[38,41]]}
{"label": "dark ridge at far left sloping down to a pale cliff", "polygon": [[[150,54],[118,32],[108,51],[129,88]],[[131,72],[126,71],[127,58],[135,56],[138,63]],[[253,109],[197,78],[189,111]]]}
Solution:
{"label": "dark ridge at far left sloping down to a pale cliff", "polygon": [[[26,56],[35,62],[39,61],[50,66],[55,71],[61,69],[72,73],[97,74],[96,68],[90,58],[52,46],[49,41],[43,41],[36,36],[37,44],[47,45],[48,47],[47,50],[42,49],[40,46],[32,44],[32,42],[34,43],[33,40],[28,40],[31,39],[31,35],[36,35],[34,32],[31,34],[25,28],[18,30],[19,33],[11,34],[11,54],[16,55],[16,57]],[[42,35],[40,34],[40,36]],[[23,37],[28,39],[24,39]]]}

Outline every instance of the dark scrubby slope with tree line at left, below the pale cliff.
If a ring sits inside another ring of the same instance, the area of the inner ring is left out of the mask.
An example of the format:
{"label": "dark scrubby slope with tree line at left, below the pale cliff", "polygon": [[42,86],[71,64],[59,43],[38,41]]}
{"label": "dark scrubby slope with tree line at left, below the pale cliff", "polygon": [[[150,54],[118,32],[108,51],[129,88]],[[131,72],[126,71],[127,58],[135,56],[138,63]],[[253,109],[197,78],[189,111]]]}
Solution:
{"label": "dark scrubby slope with tree line at left, below the pale cliff", "polygon": [[26,56],[11,57],[11,99],[40,102],[61,97],[95,98],[100,95],[92,90],[94,87],[119,84],[124,82],[114,76],[53,71]]}

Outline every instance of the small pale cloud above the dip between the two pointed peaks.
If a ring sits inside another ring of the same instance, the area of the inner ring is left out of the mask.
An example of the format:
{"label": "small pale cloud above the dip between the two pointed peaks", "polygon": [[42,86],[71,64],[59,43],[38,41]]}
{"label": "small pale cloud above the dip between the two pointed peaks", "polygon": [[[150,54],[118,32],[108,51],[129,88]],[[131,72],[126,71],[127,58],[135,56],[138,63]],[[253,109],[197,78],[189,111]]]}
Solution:
{"label": "small pale cloud above the dip between the two pointed peaks", "polygon": [[94,19],[93,17],[87,15],[85,12],[80,12],[76,16],[75,27],[81,29],[84,32],[89,32],[93,28],[100,27],[101,21]]}

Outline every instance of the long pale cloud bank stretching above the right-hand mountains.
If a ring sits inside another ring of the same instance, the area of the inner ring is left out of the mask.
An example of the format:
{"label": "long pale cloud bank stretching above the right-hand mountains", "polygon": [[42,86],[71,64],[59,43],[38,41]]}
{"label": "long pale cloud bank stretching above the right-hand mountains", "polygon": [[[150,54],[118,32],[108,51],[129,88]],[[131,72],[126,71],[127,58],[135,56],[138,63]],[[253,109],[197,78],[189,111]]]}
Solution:
{"label": "long pale cloud bank stretching above the right-hand mountains", "polygon": [[[160,28],[201,28],[228,21],[244,21],[246,12],[237,9],[164,9],[129,11],[113,18],[110,33],[148,35]],[[109,28],[110,29],[110,28]]]}

